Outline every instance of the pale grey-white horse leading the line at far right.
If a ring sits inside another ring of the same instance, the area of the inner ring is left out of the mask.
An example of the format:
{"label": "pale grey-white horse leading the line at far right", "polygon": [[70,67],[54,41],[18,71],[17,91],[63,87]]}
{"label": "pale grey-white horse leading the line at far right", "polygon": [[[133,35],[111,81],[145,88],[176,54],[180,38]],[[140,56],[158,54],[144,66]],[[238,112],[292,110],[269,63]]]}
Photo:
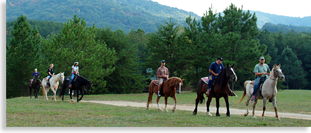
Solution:
{"label": "pale grey-white horse leading the line at far right", "polygon": [[[277,120],[281,120],[278,118],[277,115],[277,108],[276,108],[276,94],[277,94],[277,89],[276,89],[276,84],[277,84],[277,78],[280,78],[282,81],[284,81],[285,76],[282,73],[281,68],[281,64],[279,64],[278,66],[276,66],[276,64],[274,64],[274,67],[272,69],[272,75],[269,76],[269,78],[267,78],[267,80],[262,84],[262,96],[259,93],[259,91],[257,92],[256,95],[256,102],[253,104],[253,118],[256,119],[255,116],[255,107],[257,104],[257,99],[263,99],[263,112],[262,112],[262,119],[265,119],[264,113],[266,110],[266,104],[267,104],[267,100],[269,100],[269,102],[272,102],[272,105],[274,107],[274,111],[275,111],[275,117]],[[246,99],[246,113],[244,114],[244,116],[248,115],[248,104],[250,102],[250,99],[252,98],[252,94],[253,94],[253,86],[250,84],[252,81],[245,81],[244,82],[244,93],[241,97],[241,99],[239,100],[239,103],[242,102],[243,98],[245,97],[245,95],[247,94],[247,99]],[[259,89],[258,89],[259,90]],[[238,104],[239,104],[238,103]]]}

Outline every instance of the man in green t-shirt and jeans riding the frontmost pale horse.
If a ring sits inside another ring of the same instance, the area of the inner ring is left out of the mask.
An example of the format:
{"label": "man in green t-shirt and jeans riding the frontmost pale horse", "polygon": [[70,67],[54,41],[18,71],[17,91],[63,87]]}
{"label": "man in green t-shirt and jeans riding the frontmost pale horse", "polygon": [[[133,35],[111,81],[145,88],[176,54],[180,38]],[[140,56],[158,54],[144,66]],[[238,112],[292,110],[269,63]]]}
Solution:
{"label": "man in green t-shirt and jeans riding the frontmost pale horse", "polygon": [[271,71],[270,68],[267,64],[265,64],[265,57],[260,57],[259,58],[260,63],[256,64],[255,68],[254,68],[254,73],[256,75],[255,77],[255,84],[254,84],[254,92],[252,94],[252,103],[256,102],[256,92],[258,90],[259,87],[259,83],[260,83],[260,79],[262,79],[262,82],[264,82],[267,77],[269,77]]}

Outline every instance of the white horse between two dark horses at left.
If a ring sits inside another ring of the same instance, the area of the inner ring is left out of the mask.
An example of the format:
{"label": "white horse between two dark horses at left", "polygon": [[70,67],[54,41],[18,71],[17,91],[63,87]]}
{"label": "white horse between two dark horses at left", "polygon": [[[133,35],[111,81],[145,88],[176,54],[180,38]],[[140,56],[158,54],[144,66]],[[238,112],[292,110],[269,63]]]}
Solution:
{"label": "white horse between two dark horses at left", "polygon": [[49,89],[51,89],[53,91],[53,93],[54,93],[54,96],[52,97],[52,99],[54,98],[55,101],[56,101],[56,96],[55,95],[56,95],[56,90],[58,89],[58,81],[60,80],[61,83],[63,84],[64,78],[65,78],[64,73],[60,72],[59,74],[52,76],[50,78],[50,80],[49,80],[50,86],[48,88],[46,88],[46,78],[44,78],[42,80],[42,90],[43,90],[43,97],[44,97],[44,99],[49,100],[47,98],[47,92],[49,92]]}

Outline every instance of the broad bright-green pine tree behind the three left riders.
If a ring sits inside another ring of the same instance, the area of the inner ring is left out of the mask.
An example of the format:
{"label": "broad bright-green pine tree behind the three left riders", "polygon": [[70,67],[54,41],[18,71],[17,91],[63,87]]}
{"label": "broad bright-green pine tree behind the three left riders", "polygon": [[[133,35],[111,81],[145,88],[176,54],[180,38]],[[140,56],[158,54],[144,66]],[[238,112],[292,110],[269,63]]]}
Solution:
{"label": "broad bright-green pine tree behind the three left riders", "polygon": [[75,61],[79,62],[79,73],[89,79],[93,84],[91,93],[98,93],[106,86],[105,77],[110,75],[115,68],[115,51],[107,48],[100,40],[95,41],[97,28],[85,27],[84,18],[77,18],[64,23],[63,29],[57,36],[51,36],[51,40],[45,40],[42,52],[45,65],[48,69],[50,63],[54,64],[55,74],[65,71],[65,75],[71,75],[71,67]]}

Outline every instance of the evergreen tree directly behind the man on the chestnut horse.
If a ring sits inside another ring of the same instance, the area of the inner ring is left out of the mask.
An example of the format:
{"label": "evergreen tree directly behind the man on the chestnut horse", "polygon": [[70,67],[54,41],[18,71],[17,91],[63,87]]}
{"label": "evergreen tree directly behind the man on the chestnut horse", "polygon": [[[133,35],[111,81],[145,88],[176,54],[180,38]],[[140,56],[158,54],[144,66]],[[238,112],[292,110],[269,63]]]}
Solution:
{"label": "evergreen tree directly behind the man on the chestnut horse", "polygon": [[147,64],[155,75],[161,60],[166,61],[169,77],[181,77],[190,63],[190,40],[186,38],[183,27],[177,22],[165,21],[158,25],[158,32],[153,33],[148,42]]}

